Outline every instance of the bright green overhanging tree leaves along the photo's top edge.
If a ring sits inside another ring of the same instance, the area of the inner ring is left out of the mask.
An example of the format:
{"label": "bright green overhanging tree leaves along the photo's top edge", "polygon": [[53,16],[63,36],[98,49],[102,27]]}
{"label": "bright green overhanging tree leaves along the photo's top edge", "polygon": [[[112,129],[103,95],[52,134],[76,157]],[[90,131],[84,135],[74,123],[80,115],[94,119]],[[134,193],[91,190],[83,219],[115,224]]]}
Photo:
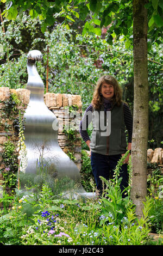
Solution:
{"label": "bright green overhanging tree leaves along the photo's top edge", "polygon": [[[109,44],[112,44],[114,36],[121,34],[128,38],[131,36],[133,25],[133,1],[131,0],[1,0],[1,2],[5,3],[2,15],[8,20],[16,19],[17,16],[22,17],[23,11],[28,11],[32,18],[39,17],[43,21],[42,32],[46,31],[47,26],[54,25],[57,17],[61,17],[62,24],[66,24],[67,28],[70,22],[86,21],[83,34],[101,35],[101,28],[111,24],[107,36]],[[158,38],[163,26],[163,2],[162,0],[149,0],[146,8],[148,9],[149,33],[154,39]]]}

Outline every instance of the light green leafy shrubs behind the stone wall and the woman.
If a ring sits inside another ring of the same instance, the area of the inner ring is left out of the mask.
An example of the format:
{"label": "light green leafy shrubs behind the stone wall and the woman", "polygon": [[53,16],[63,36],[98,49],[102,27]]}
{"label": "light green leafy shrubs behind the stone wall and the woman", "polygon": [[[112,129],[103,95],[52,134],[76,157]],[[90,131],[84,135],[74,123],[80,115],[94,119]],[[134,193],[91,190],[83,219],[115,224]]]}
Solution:
{"label": "light green leafy shrubs behind the stone wall and the woman", "polygon": [[[133,112],[133,45],[124,36],[109,45],[105,33],[81,35],[79,29],[67,29],[56,22],[42,34],[41,21],[31,20],[25,13],[22,20],[4,20],[1,29],[0,86],[26,87],[26,54],[36,48],[43,54],[37,69],[46,87],[48,58],[48,92],[82,96],[83,111],[90,104],[97,79],[103,74],[116,76],[123,88],[123,100]],[[149,40],[149,148],[161,147],[162,132],[162,44],[159,38]],[[48,52],[49,51],[49,52]],[[46,89],[45,89],[46,93]],[[87,95],[90,95],[87,97]]]}

